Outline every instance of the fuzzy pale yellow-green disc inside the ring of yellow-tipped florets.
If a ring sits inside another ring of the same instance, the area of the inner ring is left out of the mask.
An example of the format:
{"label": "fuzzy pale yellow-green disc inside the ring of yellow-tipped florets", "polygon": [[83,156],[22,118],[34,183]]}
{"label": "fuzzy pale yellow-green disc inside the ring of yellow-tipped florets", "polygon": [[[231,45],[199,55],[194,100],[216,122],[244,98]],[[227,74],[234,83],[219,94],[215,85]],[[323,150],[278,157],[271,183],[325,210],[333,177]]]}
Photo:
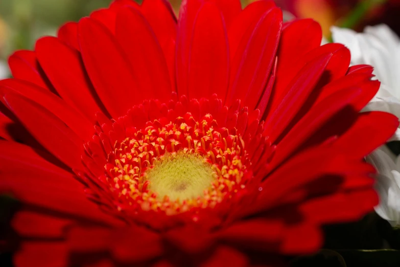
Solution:
{"label": "fuzzy pale yellow-green disc inside the ring of yellow-tipped florets", "polygon": [[177,201],[204,195],[216,176],[211,166],[201,156],[179,151],[157,159],[145,176],[150,181],[149,189],[157,193],[158,199],[168,196]]}

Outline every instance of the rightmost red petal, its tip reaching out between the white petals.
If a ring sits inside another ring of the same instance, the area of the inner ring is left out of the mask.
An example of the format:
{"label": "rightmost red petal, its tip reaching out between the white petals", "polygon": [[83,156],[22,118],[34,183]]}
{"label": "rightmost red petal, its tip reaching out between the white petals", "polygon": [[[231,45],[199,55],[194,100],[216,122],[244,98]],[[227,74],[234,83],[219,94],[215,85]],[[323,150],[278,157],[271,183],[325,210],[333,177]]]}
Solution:
{"label": "rightmost red petal, its tip reaching out between the white petals", "polygon": [[386,112],[362,113],[358,120],[332,145],[354,158],[362,158],[391,138],[399,125]]}

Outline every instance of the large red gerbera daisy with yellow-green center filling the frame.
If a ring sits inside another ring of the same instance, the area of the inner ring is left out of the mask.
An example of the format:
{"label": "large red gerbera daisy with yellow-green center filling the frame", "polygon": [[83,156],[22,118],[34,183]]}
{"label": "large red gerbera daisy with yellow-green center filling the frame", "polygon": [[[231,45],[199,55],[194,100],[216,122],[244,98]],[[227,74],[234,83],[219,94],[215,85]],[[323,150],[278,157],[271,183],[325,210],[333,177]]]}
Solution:
{"label": "large red gerbera daisy with yellow-green center filling the frame", "polygon": [[320,41],[272,1],[187,0],[177,21],[164,0],[119,0],[13,54],[15,265],[266,264],[371,211],[363,157],[398,122],[358,113],[372,68]]}

